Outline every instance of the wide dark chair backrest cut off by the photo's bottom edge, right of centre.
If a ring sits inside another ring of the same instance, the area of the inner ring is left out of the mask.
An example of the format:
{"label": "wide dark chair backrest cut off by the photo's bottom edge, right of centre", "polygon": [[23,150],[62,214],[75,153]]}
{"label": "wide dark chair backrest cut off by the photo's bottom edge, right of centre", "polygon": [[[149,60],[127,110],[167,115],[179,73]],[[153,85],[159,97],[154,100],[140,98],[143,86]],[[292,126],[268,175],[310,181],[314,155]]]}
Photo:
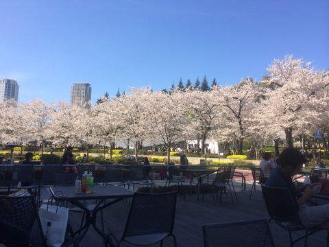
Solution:
{"label": "wide dark chair backrest cut off by the photo's bottom edge, right of centre", "polygon": [[204,224],[204,247],[275,246],[266,219]]}

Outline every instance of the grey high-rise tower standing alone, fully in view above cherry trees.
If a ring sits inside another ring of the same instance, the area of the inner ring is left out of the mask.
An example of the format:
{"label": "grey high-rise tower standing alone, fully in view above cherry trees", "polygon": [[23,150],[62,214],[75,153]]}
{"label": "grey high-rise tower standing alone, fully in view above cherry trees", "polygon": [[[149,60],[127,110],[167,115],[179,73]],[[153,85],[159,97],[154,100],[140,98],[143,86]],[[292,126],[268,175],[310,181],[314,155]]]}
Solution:
{"label": "grey high-rise tower standing alone, fully in view above cherry trees", "polygon": [[73,83],[71,87],[71,104],[90,104],[91,87],[89,83]]}

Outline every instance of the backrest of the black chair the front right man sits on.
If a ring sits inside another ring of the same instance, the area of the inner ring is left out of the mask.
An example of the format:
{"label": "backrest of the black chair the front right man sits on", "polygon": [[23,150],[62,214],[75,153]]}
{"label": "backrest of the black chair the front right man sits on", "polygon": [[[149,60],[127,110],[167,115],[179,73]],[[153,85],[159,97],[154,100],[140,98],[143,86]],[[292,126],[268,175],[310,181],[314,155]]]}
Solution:
{"label": "backrest of the black chair the front right man sits on", "polygon": [[300,222],[295,202],[288,188],[261,186],[263,198],[271,219],[275,220],[280,226],[290,222],[291,224],[304,227],[302,222]]}

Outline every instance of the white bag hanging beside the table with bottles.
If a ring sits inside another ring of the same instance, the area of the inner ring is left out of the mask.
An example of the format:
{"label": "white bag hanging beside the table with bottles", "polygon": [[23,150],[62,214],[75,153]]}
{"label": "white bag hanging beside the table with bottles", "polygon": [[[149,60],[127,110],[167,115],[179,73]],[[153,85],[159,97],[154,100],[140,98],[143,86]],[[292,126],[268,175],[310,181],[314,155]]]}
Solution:
{"label": "white bag hanging beside the table with bottles", "polygon": [[39,217],[47,246],[61,246],[65,239],[69,209],[42,204],[39,209]]}

